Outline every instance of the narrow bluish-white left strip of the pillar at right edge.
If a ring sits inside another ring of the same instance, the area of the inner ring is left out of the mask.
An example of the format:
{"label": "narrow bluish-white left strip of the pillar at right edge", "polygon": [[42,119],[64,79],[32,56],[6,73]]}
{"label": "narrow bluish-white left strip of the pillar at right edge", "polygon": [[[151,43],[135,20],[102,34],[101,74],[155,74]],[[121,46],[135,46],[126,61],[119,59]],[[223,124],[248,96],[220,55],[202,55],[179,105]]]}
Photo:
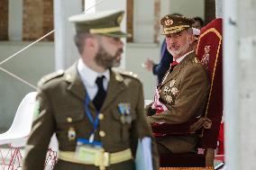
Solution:
{"label": "narrow bluish-white left strip of the pillar at right edge", "polygon": [[237,1],[224,2],[224,135],[225,164],[229,170],[241,170],[239,128],[239,68]]}

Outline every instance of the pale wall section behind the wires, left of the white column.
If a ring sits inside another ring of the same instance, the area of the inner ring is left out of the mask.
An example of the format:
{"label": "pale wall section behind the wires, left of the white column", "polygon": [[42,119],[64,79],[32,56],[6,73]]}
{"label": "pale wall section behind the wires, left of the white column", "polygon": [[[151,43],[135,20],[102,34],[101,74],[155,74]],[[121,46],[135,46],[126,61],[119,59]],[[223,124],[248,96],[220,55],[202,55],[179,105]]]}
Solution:
{"label": "pale wall section behind the wires, left of the white column", "polygon": [[[8,58],[26,45],[28,45],[26,42],[0,42],[0,61]],[[23,53],[8,60],[0,67],[4,67],[32,85],[36,85],[41,76],[54,71],[53,43],[37,43],[31,49],[23,51]],[[9,128],[18,104],[25,94],[32,91],[34,91],[32,87],[0,70],[0,131]]]}

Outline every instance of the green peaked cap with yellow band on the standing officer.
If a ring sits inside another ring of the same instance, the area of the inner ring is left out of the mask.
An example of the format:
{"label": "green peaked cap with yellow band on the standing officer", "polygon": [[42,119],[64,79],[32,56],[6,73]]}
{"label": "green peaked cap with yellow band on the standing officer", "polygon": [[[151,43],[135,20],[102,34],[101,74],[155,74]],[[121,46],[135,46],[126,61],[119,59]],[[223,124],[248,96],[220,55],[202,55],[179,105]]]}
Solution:
{"label": "green peaked cap with yellow band on the standing officer", "polygon": [[104,11],[96,13],[81,13],[69,17],[69,22],[75,24],[76,31],[92,34],[102,34],[110,37],[126,37],[121,31],[123,11]]}

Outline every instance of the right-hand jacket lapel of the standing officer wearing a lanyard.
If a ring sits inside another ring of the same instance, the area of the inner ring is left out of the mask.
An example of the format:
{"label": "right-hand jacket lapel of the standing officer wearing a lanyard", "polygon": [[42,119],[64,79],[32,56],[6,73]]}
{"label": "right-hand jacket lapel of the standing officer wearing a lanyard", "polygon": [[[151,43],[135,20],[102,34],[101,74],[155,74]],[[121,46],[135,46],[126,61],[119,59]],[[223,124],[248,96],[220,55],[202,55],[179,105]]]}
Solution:
{"label": "right-hand jacket lapel of the standing officer wearing a lanyard", "polygon": [[126,88],[123,82],[123,76],[110,70],[110,80],[106,91],[105,102],[101,111],[103,112],[110,103],[112,103],[117,94],[120,94]]}

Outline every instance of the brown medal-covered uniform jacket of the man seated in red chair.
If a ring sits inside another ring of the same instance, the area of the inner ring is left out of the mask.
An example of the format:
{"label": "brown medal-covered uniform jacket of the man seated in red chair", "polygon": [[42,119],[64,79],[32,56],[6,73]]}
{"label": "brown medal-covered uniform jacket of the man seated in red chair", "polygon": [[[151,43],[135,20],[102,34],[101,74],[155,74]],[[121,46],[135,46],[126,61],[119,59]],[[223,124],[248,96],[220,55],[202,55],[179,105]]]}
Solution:
{"label": "brown medal-covered uniform jacket of the man seated in red chair", "polygon": [[[197,61],[196,54],[190,53],[173,71],[167,75],[158,87],[160,102],[168,111],[149,116],[153,123],[182,124],[202,115],[206,108],[209,91],[206,68]],[[168,136],[157,141],[171,152],[194,151],[196,135]]]}

